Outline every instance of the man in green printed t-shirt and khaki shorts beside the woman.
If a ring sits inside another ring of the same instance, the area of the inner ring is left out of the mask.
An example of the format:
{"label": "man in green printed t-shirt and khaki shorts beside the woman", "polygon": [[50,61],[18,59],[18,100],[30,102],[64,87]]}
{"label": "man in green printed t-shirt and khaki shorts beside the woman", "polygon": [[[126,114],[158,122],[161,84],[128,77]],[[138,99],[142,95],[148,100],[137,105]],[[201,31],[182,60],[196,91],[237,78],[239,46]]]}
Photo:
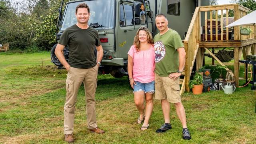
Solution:
{"label": "man in green printed t-shirt and khaki shorts beside the woman", "polygon": [[155,48],[155,99],[161,100],[164,124],[156,132],[162,133],[172,128],[170,124],[170,102],[174,103],[176,113],[182,123],[182,134],[190,140],[190,132],[186,124],[185,109],[181,103],[179,78],[184,69],[186,52],[180,35],[168,28],[168,20],[164,14],[156,15],[156,27],[160,33],[154,37]]}

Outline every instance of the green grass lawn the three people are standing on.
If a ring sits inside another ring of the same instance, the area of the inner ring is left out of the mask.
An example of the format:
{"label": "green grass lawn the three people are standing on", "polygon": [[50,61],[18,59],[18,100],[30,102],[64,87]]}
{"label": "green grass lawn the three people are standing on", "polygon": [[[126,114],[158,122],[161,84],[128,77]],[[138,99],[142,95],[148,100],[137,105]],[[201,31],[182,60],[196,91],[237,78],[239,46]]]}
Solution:
{"label": "green grass lawn the three people are standing on", "polygon": [[[0,143],[65,143],[63,106],[67,72],[51,64],[50,52],[0,53],[0,59]],[[210,62],[209,59],[206,63]],[[240,75],[243,76],[242,71]],[[192,140],[185,141],[174,105],[170,112],[172,130],[163,134],[155,132],[164,120],[160,101],[154,100],[150,127],[141,131],[141,125],[136,124],[138,111],[127,77],[99,75],[97,120],[106,133],[88,132],[84,87],[81,86],[76,104],[74,143],[255,144],[256,92],[250,90],[250,86],[237,88],[232,95],[223,91],[183,94],[182,103],[192,135]]]}

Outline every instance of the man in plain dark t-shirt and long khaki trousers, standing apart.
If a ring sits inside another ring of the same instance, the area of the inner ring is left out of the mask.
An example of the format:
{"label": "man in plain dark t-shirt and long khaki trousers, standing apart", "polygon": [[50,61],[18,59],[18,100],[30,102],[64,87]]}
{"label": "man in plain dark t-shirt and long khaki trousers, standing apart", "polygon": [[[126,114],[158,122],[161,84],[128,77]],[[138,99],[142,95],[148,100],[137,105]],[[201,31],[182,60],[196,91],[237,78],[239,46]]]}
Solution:
{"label": "man in plain dark t-shirt and long khaki trousers, standing apart", "polygon": [[[95,91],[97,75],[103,49],[98,32],[88,25],[90,9],[87,4],[76,6],[77,23],[64,30],[55,54],[68,71],[66,79],[66,102],[64,105],[64,134],[66,142],[73,142],[74,111],[78,90],[84,83],[86,93],[86,116],[88,129],[91,132],[104,133],[96,123]],[[66,62],[62,51],[69,47],[69,60]],[[94,47],[97,49],[97,60]]]}

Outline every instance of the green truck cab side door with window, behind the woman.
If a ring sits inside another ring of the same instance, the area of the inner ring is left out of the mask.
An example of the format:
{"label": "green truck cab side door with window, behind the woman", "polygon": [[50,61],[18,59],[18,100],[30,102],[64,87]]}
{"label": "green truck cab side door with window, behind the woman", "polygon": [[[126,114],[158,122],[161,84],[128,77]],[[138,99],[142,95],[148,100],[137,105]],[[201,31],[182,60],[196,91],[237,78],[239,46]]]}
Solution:
{"label": "green truck cab side door with window, behind the woman", "polygon": [[[134,36],[141,26],[146,26],[145,12],[144,10],[139,10],[139,16],[136,15],[134,18],[134,12],[140,9],[141,2],[119,2],[119,16],[118,19],[118,39],[117,51],[118,58],[124,58],[124,63],[128,59],[128,51],[132,46]],[[135,7],[135,10],[134,10]],[[134,26],[134,21],[137,21]]]}

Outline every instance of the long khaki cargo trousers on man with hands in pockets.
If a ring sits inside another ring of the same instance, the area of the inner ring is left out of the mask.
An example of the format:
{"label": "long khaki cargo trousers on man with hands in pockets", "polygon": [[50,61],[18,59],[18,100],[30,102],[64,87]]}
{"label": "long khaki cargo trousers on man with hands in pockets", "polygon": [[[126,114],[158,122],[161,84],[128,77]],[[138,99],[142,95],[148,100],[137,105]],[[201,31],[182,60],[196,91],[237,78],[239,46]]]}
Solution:
{"label": "long khaki cargo trousers on man with hands in pockets", "polygon": [[64,134],[73,134],[75,105],[78,90],[84,82],[86,96],[86,116],[88,128],[96,128],[95,91],[97,87],[98,65],[93,68],[73,68],[68,70],[66,79],[66,102],[64,105]]}

